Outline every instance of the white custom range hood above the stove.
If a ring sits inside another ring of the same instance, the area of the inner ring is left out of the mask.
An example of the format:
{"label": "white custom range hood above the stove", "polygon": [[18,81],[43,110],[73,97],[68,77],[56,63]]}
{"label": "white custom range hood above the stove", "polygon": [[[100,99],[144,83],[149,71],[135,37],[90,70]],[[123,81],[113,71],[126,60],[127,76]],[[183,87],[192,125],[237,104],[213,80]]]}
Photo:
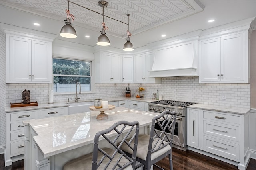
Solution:
{"label": "white custom range hood above the stove", "polygon": [[199,76],[198,37],[173,41],[154,48],[150,77]]}

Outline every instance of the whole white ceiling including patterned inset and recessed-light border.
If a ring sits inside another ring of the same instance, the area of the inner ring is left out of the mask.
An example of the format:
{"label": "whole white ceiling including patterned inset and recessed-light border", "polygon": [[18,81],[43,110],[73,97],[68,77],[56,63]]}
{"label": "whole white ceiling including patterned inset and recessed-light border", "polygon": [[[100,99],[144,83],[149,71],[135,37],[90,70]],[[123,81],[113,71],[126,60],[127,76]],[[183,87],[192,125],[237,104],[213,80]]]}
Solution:
{"label": "whole white ceiling including patterned inset and recessed-light border", "polygon": [[[76,4],[73,4],[74,2]],[[70,14],[78,37],[57,39],[95,46],[102,29],[102,7],[98,0],[71,0]],[[107,0],[104,22],[112,47],[122,49],[129,31],[134,48],[180,34],[208,29],[256,16],[256,0]],[[0,22],[58,35],[65,24],[67,0],[1,0]],[[80,6],[79,6],[80,5]],[[100,14],[82,8],[84,6]],[[208,23],[209,19],[215,19]],[[121,23],[122,21],[124,23]],[[34,22],[40,23],[36,27]],[[166,37],[161,37],[166,34]],[[90,38],[85,38],[90,35]]]}

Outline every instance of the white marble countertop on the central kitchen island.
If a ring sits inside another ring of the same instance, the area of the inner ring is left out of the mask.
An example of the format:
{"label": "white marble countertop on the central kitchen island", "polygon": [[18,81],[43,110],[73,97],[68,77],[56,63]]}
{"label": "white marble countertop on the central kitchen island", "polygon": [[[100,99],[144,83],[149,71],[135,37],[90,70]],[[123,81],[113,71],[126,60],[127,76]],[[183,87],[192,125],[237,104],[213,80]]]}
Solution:
{"label": "white marble countertop on the central kitchen island", "polygon": [[93,143],[96,132],[106,129],[119,120],[139,121],[140,127],[150,125],[159,113],[116,107],[105,111],[109,119],[97,120],[99,111],[77,113],[45,119],[24,121],[37,136],[34,141],[45,158]]}

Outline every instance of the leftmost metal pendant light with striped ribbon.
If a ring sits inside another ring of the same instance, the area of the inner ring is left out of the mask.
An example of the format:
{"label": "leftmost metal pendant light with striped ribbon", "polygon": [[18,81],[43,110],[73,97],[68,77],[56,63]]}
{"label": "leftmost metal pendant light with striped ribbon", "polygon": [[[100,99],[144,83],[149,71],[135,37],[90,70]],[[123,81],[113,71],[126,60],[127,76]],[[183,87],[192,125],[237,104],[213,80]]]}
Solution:
{"label": "leftmost metal pendant light with striped ribbon", "polygon": [[64,25],[60,30],[60,36],[65,38],[76,38],[76,30],[71,26],[71,19],[74,20],[74,16],[69,14],[69,0],[68,0],[68,10],[66,10],[67,13],[67,19],[64,20],[66,25]]}

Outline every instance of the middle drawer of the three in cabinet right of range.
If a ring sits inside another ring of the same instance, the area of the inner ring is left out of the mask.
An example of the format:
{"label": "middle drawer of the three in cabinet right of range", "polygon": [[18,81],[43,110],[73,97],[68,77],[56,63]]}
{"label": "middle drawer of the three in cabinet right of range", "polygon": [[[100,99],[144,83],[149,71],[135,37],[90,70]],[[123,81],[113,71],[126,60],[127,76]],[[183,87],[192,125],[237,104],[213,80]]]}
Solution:
{"label": "middle drawer of the three in cabinet right of range", "polygon": [[240,142],[240,127],[204,121],[204,134]]}

